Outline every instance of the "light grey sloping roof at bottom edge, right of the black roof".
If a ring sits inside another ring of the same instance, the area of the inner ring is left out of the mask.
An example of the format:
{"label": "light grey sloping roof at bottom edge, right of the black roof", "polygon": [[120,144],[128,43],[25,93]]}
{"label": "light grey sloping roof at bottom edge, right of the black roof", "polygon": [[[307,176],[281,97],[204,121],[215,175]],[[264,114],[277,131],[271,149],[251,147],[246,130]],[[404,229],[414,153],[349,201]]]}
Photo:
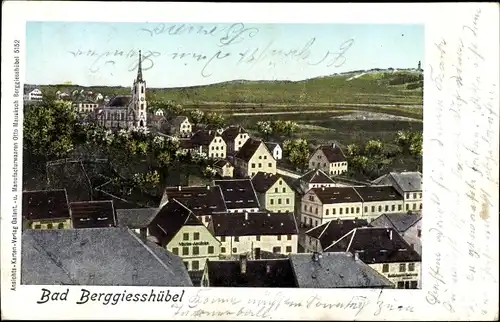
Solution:
{"label": "light grey sloping roof at bottom edge, right of the black roof", "polygon": [[298,287],[302,288],[394,288],[383,275],[351,253],[291,254]]}

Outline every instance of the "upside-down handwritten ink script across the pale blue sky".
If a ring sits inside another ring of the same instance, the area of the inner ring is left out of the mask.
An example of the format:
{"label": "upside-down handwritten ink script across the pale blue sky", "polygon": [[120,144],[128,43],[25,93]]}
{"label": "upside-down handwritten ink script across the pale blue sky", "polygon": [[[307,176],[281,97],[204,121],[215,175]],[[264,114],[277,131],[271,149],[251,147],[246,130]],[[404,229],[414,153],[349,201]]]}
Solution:
{"label": "upside-down handwritten ink script across the pale blue sky", "polygon": [[[339,44],[333,44],[331,49],[317,49],[318,39],[312,37],[297,48],[283,48],[277,39],[271,39],[261,45],[254,45],[254,39],[261,30],[247,27],[243,23],[229,26],[192,26],[186,24],[159,24],[151,29],[141,28],[142,37],[151,38],[152,43],[168,41],[167,36],[177,37],[208,37],[213,39],[216,48],[199,51],[164,52],[155,49],[142,51],[143,70],[152,69],[159,59],[168,59],[185,66],[196,64],[202,77],[210,77],[215,72],[214,64],[223,62],[224,66],[245,66],[249,69],[259,65],[273,68],[287,62],[300,62],[309,66],[326,66],[337,68],[347,61],[347,53],[354,45],[354,39],[347,39]],[[235,45],[239,45],[238,48]],[[247,46],[245,46],[247,45]],[[243,49],[242,49],[243,48]],[[68,52],[74,58],[91,57],[89,67],[91,73],[97,73],[106,67],[120,63],[127,64],[129,71],[137,69],[138,51],[135,49],[114,49],[100,51],[96,49],[75,49]]]}

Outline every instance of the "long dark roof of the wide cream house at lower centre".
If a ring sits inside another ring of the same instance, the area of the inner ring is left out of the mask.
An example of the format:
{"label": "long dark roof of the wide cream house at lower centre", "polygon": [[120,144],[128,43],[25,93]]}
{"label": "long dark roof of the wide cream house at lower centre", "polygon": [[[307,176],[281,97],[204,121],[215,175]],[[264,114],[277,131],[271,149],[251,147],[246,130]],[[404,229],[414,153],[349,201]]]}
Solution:
{"label": "long dark roof of the wide cream house at lower centre", "polygon": [[294,214],[289,212],[214,214],[210,227],[215,236],[296,235],[299,231]]}

